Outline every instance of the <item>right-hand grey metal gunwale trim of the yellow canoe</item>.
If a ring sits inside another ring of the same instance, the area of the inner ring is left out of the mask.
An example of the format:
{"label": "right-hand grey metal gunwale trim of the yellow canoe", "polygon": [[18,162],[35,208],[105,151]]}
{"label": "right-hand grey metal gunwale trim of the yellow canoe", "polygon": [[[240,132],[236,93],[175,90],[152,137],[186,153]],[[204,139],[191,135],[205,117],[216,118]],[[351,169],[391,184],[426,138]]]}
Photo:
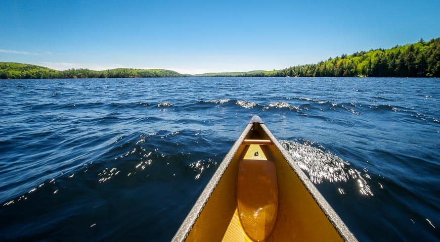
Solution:
{"label": "right-hand grey metal gunwale trim of the yellow canoe", "polygon": [[299,168],[298,165],[293,161],[292,157],[287,153],[283,146],[281,146],[280,142],[275,138],[272,132],[266,127],[265,124],[260,124],[261,128],[266,132],[269,138],[272,140],[273,144],[278,148],[278,150],[283,155],[284,159],[289,163],[292,170],[296,173],[298,178],[304,184],[305,188],[312,195],[313,199],[316,201],[318,206],[330,220],[332,225],[336,228],[338,233],[342,236],[342,238],[347,242],[357,242],[358,239],[355,235],[348,229],[342,219],[337,215],[337,213],[333,210],[330,204],[325,200],[322,196],[321,192],[316,188],[316,186],[312,183],[312,181],[305,175],[305,173]]}

